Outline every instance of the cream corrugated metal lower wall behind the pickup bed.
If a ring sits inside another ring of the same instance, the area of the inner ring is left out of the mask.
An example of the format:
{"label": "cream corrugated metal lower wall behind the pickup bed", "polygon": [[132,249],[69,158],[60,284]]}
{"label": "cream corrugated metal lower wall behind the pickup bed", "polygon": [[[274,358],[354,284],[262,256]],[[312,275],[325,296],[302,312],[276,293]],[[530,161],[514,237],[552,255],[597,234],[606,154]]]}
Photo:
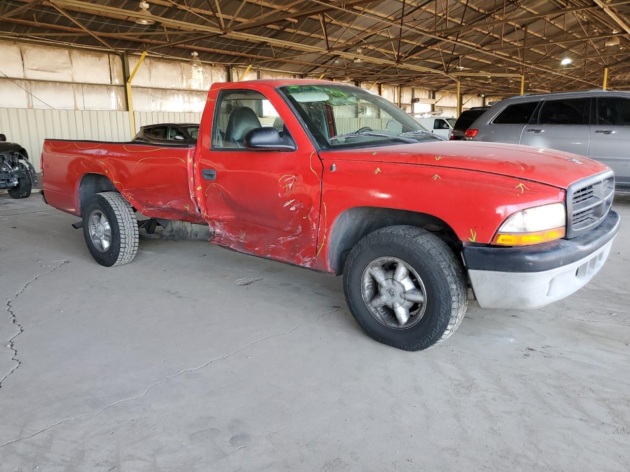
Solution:
{"label": "cream corrugated metal lower wall behind the pickup bed", "polygon": [[[201,113],[137,111],[137,128],[155,123],[199,123]],[[129,111],[37,110],[0,108],[0,133],[9,142],[20,143],[39,169],[45,138],[129,141]]]}

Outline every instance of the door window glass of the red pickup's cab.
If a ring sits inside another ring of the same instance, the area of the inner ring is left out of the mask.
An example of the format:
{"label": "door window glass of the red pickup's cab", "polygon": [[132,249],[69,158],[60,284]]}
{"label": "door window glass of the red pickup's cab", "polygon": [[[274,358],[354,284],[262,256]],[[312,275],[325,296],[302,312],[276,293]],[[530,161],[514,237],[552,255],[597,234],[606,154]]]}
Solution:
{"label": "door window glass of the red pickup's cab", "polygon": [[245,135],[255,128],[273,126],[280,135],[284,121],[272,103],[253,90],[224,90],[219,92],[212,123],[213,148],[244,147]]}

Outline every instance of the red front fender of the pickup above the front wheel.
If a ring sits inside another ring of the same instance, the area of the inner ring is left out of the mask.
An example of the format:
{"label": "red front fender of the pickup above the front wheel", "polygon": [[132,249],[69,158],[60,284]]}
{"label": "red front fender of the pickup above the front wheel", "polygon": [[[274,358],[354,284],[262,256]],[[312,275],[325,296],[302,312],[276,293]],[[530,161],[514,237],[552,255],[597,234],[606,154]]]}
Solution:
{"label": "red front fender of the pickup above the front wheel", "polygon": [[505,219],[524,208],[564,201],[562,189],[488,172],[389,162],[324,160],[318,267],[330,271],[329,233],[357,206],[431,215],[462,242],[490,243]]}

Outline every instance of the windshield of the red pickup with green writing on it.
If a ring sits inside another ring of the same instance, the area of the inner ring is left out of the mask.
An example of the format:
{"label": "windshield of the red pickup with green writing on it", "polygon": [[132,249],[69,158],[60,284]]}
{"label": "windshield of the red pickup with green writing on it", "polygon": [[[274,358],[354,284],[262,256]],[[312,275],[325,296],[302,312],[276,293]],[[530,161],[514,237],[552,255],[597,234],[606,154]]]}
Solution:
{"label": "windshield of the red pickup with green writing on it", "polygon": [[438,140],[398,106],[348,85],[280,87],[323,149]]}

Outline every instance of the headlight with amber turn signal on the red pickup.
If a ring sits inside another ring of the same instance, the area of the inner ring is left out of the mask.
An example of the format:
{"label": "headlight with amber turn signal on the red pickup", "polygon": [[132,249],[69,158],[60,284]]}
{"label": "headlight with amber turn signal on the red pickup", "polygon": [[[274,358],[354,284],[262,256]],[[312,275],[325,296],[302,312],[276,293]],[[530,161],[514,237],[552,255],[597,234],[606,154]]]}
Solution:
{"label": "headlight with amber turn signal on the red pickup", "polygon": [[492,244],[526,246],[564,237],[564,203],[534,206],[510,216],[496,232]]}

